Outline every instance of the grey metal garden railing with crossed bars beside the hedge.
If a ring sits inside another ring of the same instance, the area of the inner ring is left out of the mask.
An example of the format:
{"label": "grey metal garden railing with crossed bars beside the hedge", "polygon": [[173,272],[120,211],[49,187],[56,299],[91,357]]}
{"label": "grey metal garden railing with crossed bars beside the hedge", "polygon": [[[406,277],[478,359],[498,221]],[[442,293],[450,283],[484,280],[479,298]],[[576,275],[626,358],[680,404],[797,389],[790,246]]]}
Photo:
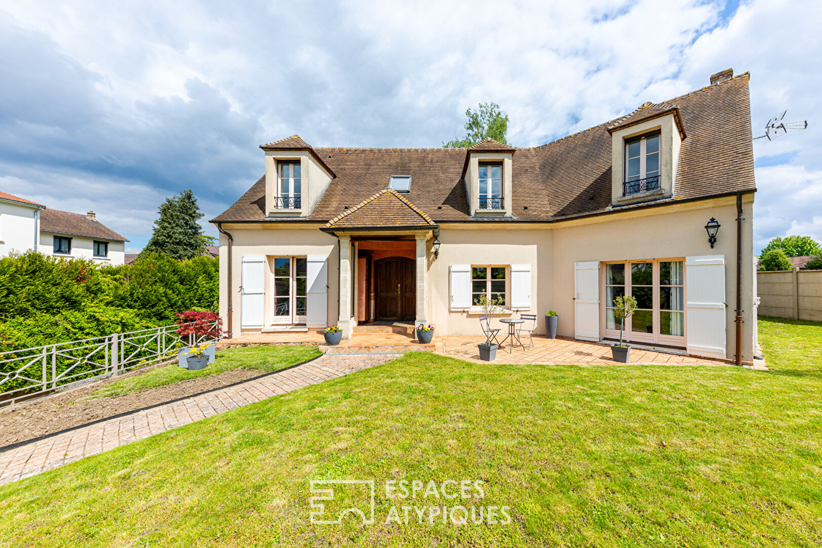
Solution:
{"label": "grey metal garden railing with crossed bars beside the hedge", "polygon": [[[217,323],[208,325],[216,327]],[[77,381],[156,364],[169,360],[182,346],[217,340],[210,335],[182,337],[177,334],[179,328],[166,325],[0,352],[0,406]]]}

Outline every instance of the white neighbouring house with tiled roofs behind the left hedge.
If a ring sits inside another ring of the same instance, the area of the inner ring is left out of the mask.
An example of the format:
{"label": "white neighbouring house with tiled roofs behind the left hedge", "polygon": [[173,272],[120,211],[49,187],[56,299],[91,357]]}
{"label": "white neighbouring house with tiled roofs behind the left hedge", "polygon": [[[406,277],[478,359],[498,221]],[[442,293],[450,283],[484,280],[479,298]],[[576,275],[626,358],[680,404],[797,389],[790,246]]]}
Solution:
{"label": "white neighbouring house with tiled roofs behind the left hedge", "polygon": [[94,211],[72,213],[0,192],[0,256],[35,249],[45,255],[123,264],[125,243]]}

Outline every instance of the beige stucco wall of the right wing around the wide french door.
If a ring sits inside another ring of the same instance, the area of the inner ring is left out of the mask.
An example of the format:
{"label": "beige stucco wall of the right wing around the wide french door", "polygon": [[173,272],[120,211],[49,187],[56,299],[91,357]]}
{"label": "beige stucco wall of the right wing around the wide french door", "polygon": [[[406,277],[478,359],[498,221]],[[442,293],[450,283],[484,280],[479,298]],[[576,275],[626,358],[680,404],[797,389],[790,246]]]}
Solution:
{"label": "beige stucco wall of the right wing around the wide french door", "polygon": [[[753,225],[752,195],[743,197],[746,221],[742,234],[742,355],[753,358],[754,295],[753,295]],[[724,203],[724,205],[722,205]],[[726,355],[736,352],[734,309],[736,308],[737,267],[737,207],[735,197],[723,200],[693,202],[690,211],[653,215],[653,210],[638,212],[644,217],[593,225],[556,228],[553,231],[553,297],[552,309],[559,314],[557,333],[574,336],[574,263],[584,261],[622,261],[629,259],[678,258],[694,255],[725,256]],[[711,217],[722,225],[717,243],[711,248],[704,225]],[[607,217],[603,217],[603,220]],[[600,273],[603,276],[603,272]],[[687,291],[687,287],[686,287]],[[604,299],[600,295],[600,300]],[[542,313],[545,313],[543,310]],[[600,335],[604,329],[601,318]]]}

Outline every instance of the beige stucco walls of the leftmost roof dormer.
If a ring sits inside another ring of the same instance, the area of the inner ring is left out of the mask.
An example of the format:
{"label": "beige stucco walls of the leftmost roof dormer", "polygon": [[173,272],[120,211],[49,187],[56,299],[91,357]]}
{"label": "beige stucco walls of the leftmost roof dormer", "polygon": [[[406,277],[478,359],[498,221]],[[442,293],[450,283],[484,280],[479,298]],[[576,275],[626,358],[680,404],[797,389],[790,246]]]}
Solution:
{"label": "beige stucco walls of the leftmost roof dormer", "polygon": [[[277,209],[277,160],[300,160],[300,209]],[[330,174],[308,151],[266,151],[266,211],[270,216],[307,216],[331,182]]]}

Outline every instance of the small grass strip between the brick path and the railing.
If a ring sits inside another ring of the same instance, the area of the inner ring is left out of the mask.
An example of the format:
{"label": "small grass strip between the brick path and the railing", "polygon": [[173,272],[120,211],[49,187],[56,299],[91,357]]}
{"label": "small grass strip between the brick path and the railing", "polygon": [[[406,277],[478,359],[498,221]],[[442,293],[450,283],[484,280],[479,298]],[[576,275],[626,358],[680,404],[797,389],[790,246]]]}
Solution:
{"label": "small grass strip between the brick path and the railing", "polygon": [[265,373],[276,371],[310,360],[320,355],[316,346],[240,346],[229,350],[218,351],[217,360],[205,369],[189,371],[177,364],[156,367],[136,377],[122,378],[96,390],[90,397],[124,396],[147,388],[157,388],[167,384],[178,383],[189,378],[207,377],[233,369],[252,369]]}

